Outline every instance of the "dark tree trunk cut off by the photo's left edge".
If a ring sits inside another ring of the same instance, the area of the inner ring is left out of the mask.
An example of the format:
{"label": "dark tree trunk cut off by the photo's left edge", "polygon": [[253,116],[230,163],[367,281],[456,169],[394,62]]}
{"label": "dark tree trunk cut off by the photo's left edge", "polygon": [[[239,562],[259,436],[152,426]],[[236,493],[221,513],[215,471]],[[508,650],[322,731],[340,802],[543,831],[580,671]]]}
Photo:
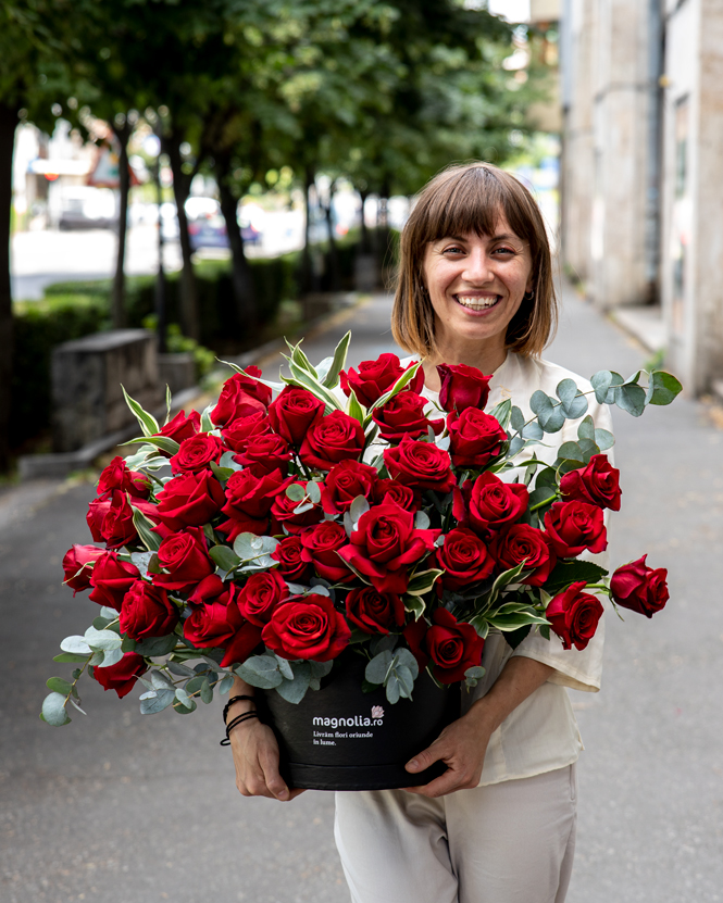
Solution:
{"label": "dark tree trunk cut off by the photo's left edge", "polygon": [[10,469],[10,402],[13,375],[13,301],[10,285],[10,209],[17,110],[0,103],[0,473]]}

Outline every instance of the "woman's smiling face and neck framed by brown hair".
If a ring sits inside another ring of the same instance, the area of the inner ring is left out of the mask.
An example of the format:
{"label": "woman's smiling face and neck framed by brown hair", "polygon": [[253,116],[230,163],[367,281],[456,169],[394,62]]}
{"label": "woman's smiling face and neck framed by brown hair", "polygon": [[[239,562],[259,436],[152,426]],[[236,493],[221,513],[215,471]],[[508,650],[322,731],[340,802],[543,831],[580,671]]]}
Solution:
{"label": "woman's smiling face and neck framed by brown hair", "polygon": [[529,244],[500,216],[491,236],[458,235],[429,242],[423,274],[440,348],[460,341],[503,347],[508,324],[532,289]]}

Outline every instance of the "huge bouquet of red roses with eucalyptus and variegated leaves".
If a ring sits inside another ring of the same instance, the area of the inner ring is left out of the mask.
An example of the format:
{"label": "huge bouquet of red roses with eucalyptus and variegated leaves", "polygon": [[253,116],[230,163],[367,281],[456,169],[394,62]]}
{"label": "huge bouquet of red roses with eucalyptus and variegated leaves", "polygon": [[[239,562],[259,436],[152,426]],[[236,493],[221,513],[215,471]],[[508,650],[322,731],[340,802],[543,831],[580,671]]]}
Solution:
{"label": "huge bouquet of red roses with eucalyptus and variegated leaves", "polygon": [[[48,680],[46,722],[83,711],[84,672],[119,697],[140,685],[145,714],[187,714],[234,674],[298,703],[341,653],[395,703],[424,668],[474,686],[489,631],[582,650],[600,594],[648,617],[664,606],[666,572],[645,555],[612,578],[581,557],[606,549],[603,512],[621,504],[586,396],[639,416],[675,398],[673,376],[603,371],[587,393],[563,379],[525,419],[509,400],[485,411],[490,377],[473,367],[438,367],[438,404],[419,363],[345,371],[349,340],[316,367],[289,347],[281,384],[234,367],[217,403],[163,426],[126,396],[144,436],[100,476],[98,544],[63,560],[100,610],[61,643],[74,670]],[[577,441],[546,463],[535,446],[568,419]]]}

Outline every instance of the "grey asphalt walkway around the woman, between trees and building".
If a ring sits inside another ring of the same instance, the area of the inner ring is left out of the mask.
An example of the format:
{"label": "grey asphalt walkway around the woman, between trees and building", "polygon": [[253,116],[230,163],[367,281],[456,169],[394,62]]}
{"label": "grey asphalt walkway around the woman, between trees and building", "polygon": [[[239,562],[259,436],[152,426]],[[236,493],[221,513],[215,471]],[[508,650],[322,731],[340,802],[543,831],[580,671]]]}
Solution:
{"label": "grey asphalt walkway around the woman, between trees and building", "polygon": [[[645,355],[583,302],[565,299],[548,358],[589,376]],[[389,304],[353,313],[356,361],[392,348]],[[309,341],[329,353],[347,325]],[[272,368],[270,368],[272,369]],[[649,553],[672,600],[652,620],[610,618],[603,688],[572,693],[586,743],[569,903],[723,900],[723,432],[688,399],[615,416],[623,511],[618,564]],[[89,541],[89,484],[36,482],[0,496],[0,901],[2,903],[342,903],[333,799],[291,804],[235,790],[221,705],[142,717],[98,685],[88,717],[38,719],[51,656],[95,613],[61,586],[60,561]],[[484,901],[481,901],[484,903]]]}

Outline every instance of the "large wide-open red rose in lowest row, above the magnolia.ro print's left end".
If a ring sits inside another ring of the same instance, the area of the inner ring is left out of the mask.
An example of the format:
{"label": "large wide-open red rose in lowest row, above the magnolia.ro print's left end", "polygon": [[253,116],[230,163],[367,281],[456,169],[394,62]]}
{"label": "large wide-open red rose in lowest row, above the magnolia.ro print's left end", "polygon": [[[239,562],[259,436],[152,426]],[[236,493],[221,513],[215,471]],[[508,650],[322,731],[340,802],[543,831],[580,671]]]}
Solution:
{"label": "large wide-open red rose in lowest row, above the magnolia.ro print's left end", "polygon": [[328,662],[349,643],[351,630],[326,595],[296,595],[278,605],[261,638],[282,659]]}

